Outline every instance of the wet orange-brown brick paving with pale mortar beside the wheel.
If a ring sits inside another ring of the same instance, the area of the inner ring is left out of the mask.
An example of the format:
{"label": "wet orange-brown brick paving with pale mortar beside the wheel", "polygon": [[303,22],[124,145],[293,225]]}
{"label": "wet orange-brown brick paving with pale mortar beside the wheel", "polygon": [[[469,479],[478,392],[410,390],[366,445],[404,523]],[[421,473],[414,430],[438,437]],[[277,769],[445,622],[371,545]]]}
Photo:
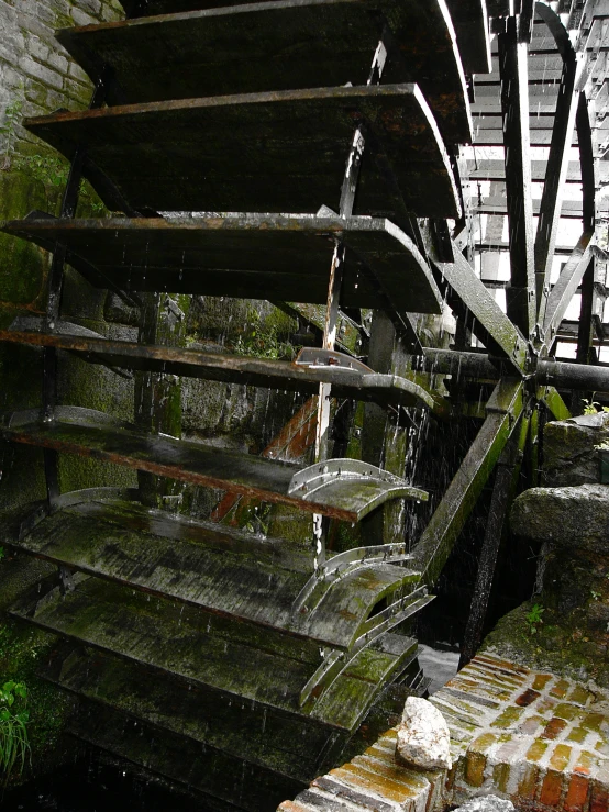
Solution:
{"label": "wet orange-brown brick paving with pale mortar beside the wheel", "polygon": [[451,731],[449,774],[398,764],[391,730],[279,810],[433,812],[489,793],[532,812],[609,810],[609,694],[485,653],[430,701]]}

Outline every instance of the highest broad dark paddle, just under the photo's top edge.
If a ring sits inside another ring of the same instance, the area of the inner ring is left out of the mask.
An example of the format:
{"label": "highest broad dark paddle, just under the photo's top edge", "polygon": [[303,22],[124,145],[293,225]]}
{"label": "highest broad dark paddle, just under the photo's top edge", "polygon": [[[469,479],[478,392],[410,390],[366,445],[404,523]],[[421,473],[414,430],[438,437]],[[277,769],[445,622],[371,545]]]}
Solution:
{"label": "highest broad dark paddle, just under the photo's top edge", "polygon": [[[461,3],[462,5],[463,3]],[[173,5],[147,20],[70,29],[58,34],[91,78],[109,65],[111,103],[204,94],[365,85],[389,21],[401,59],[386,79],[417,82],[449,143],[468,142],[467,92],[443,3],[408,0],[276,0]],[[469,0],[457,35],[484,51],[481,0]],[[477,7],[477,8],[475,8]],[[425,42],[428,47],[421,48]],[[462,49],[466,56],[468,51]],[[478,57],[479,62],[479,57]],[[470,70],[470,68],[469,68]]]}

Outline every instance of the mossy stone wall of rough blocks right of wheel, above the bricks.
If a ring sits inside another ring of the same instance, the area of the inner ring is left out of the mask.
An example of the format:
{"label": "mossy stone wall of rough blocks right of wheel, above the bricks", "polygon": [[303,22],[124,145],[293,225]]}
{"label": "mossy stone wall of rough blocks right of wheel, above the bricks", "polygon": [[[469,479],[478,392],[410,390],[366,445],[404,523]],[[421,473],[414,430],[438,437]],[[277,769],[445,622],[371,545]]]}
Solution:
{"label": "mossy stone wall of rough blocks right of wheel, above the bricks", "polygon": [[609,486],[597,448],[609,414],[549,423],[547,487],[514,502],[512,530],[539,549],[538,588],[485,641],[512,661],[609,687]]}

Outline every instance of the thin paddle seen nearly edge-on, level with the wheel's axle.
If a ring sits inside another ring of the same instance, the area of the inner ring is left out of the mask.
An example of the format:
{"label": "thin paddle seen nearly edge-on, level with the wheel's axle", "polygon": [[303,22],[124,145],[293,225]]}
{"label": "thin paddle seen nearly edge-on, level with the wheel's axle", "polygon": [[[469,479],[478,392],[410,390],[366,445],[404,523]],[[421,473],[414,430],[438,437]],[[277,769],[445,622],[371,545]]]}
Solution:
{"label": "thin paddle seen nearly edge-on, level with the wheel's axle", "polygon": [[104,364],[114,368],[166,372],[299,392],[314,392],[319,382],[325,380],[332,383],[336,397],[373,400],[384,405],[389,403],[407,407],[433,405],[432,398],[424,389],[406,378],[372,371],[366,375],[341,366],[302,366],[269,358],[208,353],[191,347],[144,346],[135,342],[31,331],[0,331],[0,342],[53,346],[77,353],[92,364]]}

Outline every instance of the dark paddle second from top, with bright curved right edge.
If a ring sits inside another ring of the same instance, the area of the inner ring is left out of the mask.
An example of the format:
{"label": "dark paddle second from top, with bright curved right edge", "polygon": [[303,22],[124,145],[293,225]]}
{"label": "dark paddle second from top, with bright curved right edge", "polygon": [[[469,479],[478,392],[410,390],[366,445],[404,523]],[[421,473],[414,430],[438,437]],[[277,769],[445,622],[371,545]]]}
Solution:
{"label": "dark paddle second from top, with bright curved right edge", "polygon": [[[336,209],[345,155],[362,124],[389,155],[414,213],[458,212],[447,154],[414,85],[215,96],[57,113],[25,124],[68,158],[81,144],[93,186],[97,170],[146,212]],[[363,168],[357,207],[366,214],[391,211],[373,157]]]}

